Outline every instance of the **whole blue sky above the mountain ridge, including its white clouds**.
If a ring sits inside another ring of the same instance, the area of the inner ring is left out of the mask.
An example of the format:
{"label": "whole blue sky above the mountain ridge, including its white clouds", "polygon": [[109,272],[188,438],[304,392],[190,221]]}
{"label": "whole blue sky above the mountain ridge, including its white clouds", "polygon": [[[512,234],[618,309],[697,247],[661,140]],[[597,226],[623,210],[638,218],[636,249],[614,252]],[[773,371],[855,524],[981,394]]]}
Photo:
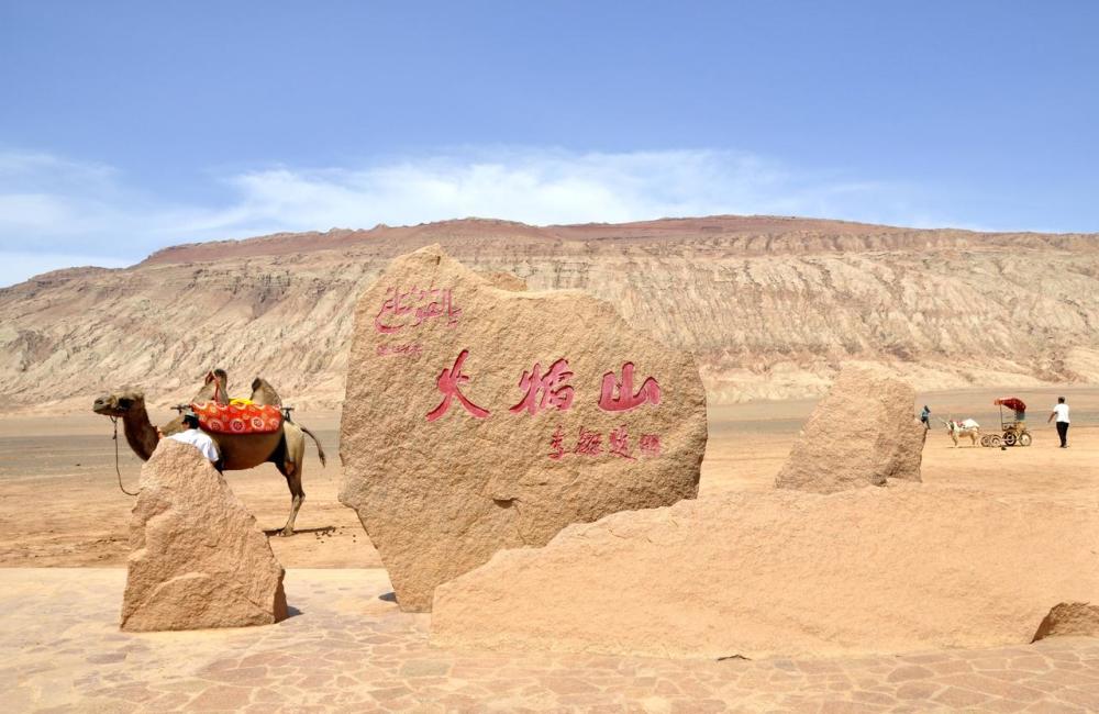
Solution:
{"label": "whole blue sky above the mountain ridge, including its white clouds", "polygon": [[480,215],[1099,232],[1099,2],[0,0],[0,285]]}

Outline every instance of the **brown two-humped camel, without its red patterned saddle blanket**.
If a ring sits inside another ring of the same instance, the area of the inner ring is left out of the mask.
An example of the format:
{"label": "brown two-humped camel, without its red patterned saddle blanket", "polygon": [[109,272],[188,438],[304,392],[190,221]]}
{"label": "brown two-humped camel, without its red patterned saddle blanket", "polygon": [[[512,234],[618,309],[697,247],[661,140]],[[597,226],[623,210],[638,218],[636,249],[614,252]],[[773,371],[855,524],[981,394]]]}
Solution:
{"label": "brown two-humped camel, without its red patterned saddle blanket", "polygon": [[[227,402],[223,389],[224,376],[222,370],[210,372],[207,376],[206,384],[191,401],[202,402],[215,399],[220,401],[221,398],[224,398]],[[255,398],[253,401],[259,404],[281,405],[278,393],[266,380],[259,378],[253,382],[253,397]],[[157,433],[157,427],[148,419],[143,391],[122,388],[97,399],[91,410],[97,414],[121,419],[130,448],[141,460],[148,460],[159,443],[160,434]],[[160,432],[164,435],[170,435],[181,429],[182,417],[177,416],[165,424]],[[275,465],[279,473],[286,477],[287,488],[290,489],[290,515],[286,525],[278,532],[280,536],[293,535],[293,522],[306,500],[306,491],[301,487],[301,472],[306,457],[307,434],[317,444],[317,455],[321,459],[321,466],[325,466],[324,449],[317,436],[301,424],[289,420],[284,420],[282,428],[270,434],[210,434],[210,437],[218,444],[225,470],[241,471],[269,461]]]}

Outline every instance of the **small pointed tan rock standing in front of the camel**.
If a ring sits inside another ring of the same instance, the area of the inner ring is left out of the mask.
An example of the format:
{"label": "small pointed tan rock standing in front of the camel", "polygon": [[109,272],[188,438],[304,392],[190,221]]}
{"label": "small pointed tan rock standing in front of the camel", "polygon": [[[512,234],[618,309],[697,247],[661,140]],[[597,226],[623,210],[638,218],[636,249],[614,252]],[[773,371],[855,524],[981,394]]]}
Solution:
{"label": "small pointed tan rock standing in front of the camel", "polygon": [[122,629],[267,625],[287,616],[267,536],[199,450],[160,442],[130,523]]}

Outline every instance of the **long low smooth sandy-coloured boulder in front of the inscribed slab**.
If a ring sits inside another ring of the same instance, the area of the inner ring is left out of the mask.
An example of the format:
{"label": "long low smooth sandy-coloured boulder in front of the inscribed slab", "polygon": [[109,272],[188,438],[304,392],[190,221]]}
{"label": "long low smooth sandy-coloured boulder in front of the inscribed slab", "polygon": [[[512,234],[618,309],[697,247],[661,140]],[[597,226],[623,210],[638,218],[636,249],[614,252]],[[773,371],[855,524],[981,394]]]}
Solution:
{"label": "long low smooth sandy-coloured boulder in front of the inscribed slab", "polygon": [[926,484],[703,498],[498,553],[435,591],[432,642],[761,658],[1096,636],[1097,543],[1094,507]]}

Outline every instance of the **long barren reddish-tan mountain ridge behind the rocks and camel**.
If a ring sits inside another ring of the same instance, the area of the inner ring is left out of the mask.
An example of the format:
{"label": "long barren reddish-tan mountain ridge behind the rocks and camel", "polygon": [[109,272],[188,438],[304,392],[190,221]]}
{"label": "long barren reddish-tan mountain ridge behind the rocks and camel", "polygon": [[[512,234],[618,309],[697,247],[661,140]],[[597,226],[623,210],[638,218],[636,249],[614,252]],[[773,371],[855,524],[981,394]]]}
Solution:
{"label": "long barren reddish-tan mountain ridge behind the rocks and camel", "polygon": [[530,290],[610,301],[693,352],[715,403],[813,395],[852,361],[919,389],[1099,382],[1097,235],[715,216],[279,234],[46,274],[0,290],[0,393],[85,409],[130,383],[167,404],[222,366],[234,395],[262,375],[288,402],[335,406],[356,297],[432,243]]}

